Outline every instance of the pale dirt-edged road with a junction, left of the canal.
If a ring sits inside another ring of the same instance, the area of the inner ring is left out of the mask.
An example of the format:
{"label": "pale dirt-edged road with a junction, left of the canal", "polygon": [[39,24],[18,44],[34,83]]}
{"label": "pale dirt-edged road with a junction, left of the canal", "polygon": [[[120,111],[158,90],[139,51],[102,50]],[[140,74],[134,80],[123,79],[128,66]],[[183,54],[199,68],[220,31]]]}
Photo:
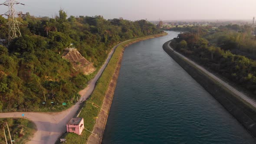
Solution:
{"label": "pale dirt-edged road with a junction, left of the canal", "polygon": [[[108,64],[110,58],[112,57],[115,48],[118,45],[116,45],[108,54],[108,58],[102,65],[102,68],[95,75],[94,79],[89,82],[88,86],[85,89],[79,92],[79,94],[82,96],[83,101],[92,94],[98,78],[101,76],[103,70]],[[75,116],[75,113],[79,110],[79,104],[80,101],[73,105],[71,108],[61,112],[0,113],[0,118],[22,118],[22,114],[24,114],[24,118],[33,121],[36,124],[37,128],[37,131],[35,132],[33,138],[31,139],[31,141],[27,142],[27,144],[54,144],[57,138],[60,137],[62,133],[66,132],[66,124],[72,117]]]}

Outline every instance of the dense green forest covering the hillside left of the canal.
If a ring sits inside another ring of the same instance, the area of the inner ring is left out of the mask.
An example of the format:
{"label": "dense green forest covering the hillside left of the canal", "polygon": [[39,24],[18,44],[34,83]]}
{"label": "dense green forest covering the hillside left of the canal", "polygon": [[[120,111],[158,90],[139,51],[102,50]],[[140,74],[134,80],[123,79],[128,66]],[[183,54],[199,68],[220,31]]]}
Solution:
{"label": "dense green forest covering the hillside left of the canal", "polygon": [[[115,44],[159,33],[146,20],[105,20],[102,16],[70,16],[63,10],[55,18],[26,13],[18,20],[22,37],[8,47],[0,45],[0,112],[58,111],[75,101],[77,92],[93,77],[72,69],[61,58],[62,49],[73,43],[98,68]],[[0,39],[6,39],[7,19],[0,16]],[[46,104],[44,95],[46,97]],[[50,102],[54,102],[53,104]]]}

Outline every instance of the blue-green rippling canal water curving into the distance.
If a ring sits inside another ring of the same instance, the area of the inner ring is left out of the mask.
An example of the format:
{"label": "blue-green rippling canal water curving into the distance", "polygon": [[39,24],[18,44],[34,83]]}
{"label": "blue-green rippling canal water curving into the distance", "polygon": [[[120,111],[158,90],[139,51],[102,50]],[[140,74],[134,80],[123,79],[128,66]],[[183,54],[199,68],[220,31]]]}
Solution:
{"label": "blue-green rippling canal water curving into the distance", "polygon": [[256,144],[162,45],[178,32],[125,49],[103,144]]}

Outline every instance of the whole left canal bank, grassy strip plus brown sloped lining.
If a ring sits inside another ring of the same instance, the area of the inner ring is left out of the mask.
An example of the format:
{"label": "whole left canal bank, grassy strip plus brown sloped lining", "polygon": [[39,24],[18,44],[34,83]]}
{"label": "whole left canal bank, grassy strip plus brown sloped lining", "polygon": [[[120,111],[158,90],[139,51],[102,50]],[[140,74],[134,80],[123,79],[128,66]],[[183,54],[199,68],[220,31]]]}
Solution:
{"label": "whole left canal bank, grassy strip plus brown sloped lining", "polygon": [[[108,62],[107,67],[105,68],[101,77],[98,79],[97,85],[95,86],[92,95],[88,98],[87,101],[85,101],[85,106],[82,108],[79,115],[79,117],[84,118],[84,125],[87,130],[96,133],[99,137],[102,137],[104,133],[105,124],[108,118],[108,111],[111,107],[112,97],[115,91],[115,83],[117,81],[118,72],[120,69],[120,67],[118,67],[118,63],[121,64],[121,58],[124,48],[131,45],[132,43],[165,35],[167,35],[167,33],[131,39],[119,44],[116,47],[115,52],[113,53],[112,58]],[[110,90],[113,92],[111,92]],[[109,95],[108,98],[106,98],[106,95]],[[99,115],[100,113],[102,113],[103,115]],[[67,139],[67,143],[84,144],[87,141],[89,142],[89,136],[91,135],[89,131],[84,130],[82,132],[82,135],[80,136],[73,133],[66,134],[65,138]],[[101,138],[99,137],[95,136],[95,139],[90,140],[90,142],[92,142],[93,144],[97,142],[100,143]]]}

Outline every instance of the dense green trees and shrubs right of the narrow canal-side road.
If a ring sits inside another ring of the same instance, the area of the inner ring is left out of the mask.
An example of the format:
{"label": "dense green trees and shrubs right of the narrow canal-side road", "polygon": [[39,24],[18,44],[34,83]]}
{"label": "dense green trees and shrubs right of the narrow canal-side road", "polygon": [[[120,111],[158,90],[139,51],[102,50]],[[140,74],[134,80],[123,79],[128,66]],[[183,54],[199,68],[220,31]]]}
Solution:
{"label": "dense green trees and shrubs right of the narrow canal-side road", "polygon": [[181,33],[171,46],[247,89],[256,98],[256,38],[249,26],[200,27],[200,36],[198,31]]}

